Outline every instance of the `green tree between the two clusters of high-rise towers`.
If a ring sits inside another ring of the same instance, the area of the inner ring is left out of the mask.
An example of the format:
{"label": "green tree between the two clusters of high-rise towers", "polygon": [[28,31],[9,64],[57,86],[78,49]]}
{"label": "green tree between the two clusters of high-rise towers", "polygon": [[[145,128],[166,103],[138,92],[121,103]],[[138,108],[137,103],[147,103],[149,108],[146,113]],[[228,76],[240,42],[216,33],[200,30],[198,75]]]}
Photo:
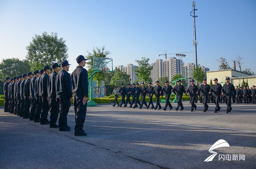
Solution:
{"label": "green tree between the two clusters of high-rise towers", "polygon": [[135,69],[135,73],[137,73],[138,80],[140,82],[144,82],[145,84],[151,82],[150,78],[151,70],[153,69],[153,65],[148,63],[149,58],[142,57],[141,60],[135,60],[138,63],[138,68]]}

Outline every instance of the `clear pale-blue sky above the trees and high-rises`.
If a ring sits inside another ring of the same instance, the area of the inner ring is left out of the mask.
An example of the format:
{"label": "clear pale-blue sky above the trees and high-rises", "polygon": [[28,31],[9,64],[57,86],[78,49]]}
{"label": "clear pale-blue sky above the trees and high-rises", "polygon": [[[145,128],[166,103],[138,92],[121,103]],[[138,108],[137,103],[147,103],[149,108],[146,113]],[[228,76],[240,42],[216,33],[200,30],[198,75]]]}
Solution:
{"label": "clear pale-blue sky above the trees and high-rises", "polygon": [[[106,46],[114,66],[167,51],[194,51],[192,0],[11,1],[0,0],[0,60],[24,59],[35,34],[57,32],[66,40],[69,61]],[[219,57],[243,56],[242,68],[256,72],[256,1],[196,0],[198,63],[218,69]],[[164,56],[161,57],[164,59]],[[194,53],[185,63],[195,62]]]}

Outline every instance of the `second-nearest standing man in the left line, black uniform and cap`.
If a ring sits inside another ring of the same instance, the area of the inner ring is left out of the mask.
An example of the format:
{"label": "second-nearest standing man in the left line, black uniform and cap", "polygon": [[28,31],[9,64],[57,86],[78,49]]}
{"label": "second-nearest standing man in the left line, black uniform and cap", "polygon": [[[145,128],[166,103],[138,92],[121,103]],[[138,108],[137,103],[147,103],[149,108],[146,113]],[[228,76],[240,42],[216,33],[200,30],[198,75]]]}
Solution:
{"label": "second-nearest standing man in the left line, black uniform and cap", "polygon": [[68,73],[69,63],[67,60],[61,62],[60,73],[56,76],[56,97],[60,107],[59,131],[69,131],[70,127],[67,122],[69,107],[71,106],[72,82]]}

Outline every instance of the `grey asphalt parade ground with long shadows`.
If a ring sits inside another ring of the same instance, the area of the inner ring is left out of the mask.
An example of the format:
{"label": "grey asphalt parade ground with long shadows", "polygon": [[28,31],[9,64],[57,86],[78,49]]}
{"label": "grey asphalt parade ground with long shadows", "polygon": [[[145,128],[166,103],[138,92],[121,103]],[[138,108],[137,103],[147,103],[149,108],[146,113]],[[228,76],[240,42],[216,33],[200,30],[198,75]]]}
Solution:
{"label": "grey asphalt parade ground with long shadows", "polygon": [[[225,104],[220,104],[221,113],[213,113],[214,104],[205,113],[203,104],[197,103],[194,112],[187,101],[183,105],[185,110],[178,112],[88,107],[87,136],[74,136],[73,105],[70,131],[4,113],[1,107],[0,168],[256,168],[255,104],[232,104],[229,114]],[[230,146],[213,151],[244,155],[245,160],[223,161],[217,154],[204,162],[220,139]]]}

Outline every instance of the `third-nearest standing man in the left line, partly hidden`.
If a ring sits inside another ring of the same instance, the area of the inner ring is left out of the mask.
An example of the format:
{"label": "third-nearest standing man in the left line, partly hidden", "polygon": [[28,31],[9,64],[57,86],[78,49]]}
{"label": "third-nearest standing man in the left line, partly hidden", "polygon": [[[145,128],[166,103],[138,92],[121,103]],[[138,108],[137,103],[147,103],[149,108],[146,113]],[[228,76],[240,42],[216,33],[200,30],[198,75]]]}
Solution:
{"label": "third-nearest standing man in the left line, partly hidden", "polygon": [[59,128],[59,126],[56,124],[58,120],[58,116],[60,113],[60,109],[57,103],[56,99],[56,76],[58,72],[60,71],[60,66],[58,63],[52,64],[52,74],[49,77],[48,80],[48,87],[47,87],[47,93],[49,97],[49,103],[50,103],[50,128]]}

